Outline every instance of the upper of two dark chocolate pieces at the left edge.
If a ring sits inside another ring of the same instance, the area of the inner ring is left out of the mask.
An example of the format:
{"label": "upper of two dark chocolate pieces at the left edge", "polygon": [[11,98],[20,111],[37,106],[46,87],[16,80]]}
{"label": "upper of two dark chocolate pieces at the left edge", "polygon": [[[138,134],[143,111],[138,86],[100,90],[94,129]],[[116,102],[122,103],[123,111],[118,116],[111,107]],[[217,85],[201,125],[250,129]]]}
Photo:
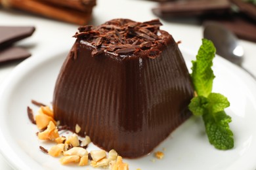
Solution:
{"label": "upper of two dark chocolate pieces at the left edge", "polygon": [[35,27],[0,26],[0,50],[14,42],[30,37],[34,31]]}

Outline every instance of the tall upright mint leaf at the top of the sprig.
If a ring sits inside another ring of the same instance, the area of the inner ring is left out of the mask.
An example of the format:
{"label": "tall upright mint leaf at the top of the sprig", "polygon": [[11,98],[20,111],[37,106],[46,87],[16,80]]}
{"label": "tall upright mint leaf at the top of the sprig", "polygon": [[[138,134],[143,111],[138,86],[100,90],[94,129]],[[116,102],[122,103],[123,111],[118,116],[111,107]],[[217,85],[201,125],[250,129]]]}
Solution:
{"label": "tall upright mint leaf at the top of the sprig", "polygon": [[198,95],[207,97],[211,93],[213,87],[213,58],[215,57],[215,46],[213,42],[202,39],[202,45],[198,50],[196,61],[192,61],[192,74],[191,78],[194,83],[194,88]]}

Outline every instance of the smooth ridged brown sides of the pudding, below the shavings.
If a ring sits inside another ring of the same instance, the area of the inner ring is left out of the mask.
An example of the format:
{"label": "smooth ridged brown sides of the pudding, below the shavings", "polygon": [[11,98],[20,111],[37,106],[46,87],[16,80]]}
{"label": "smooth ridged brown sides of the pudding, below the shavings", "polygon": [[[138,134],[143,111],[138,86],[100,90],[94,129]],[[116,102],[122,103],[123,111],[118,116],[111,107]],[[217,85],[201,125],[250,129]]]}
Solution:
{"label": "smooth ridged brown sides of the pudding, below the shavings", "polygon": [[100,148],[127,158],[144,156],[190,113],[194,90],[172,39],[157,58],[121,58],[76,42],[77,58],[66,59],[54,90],[56,120]]}

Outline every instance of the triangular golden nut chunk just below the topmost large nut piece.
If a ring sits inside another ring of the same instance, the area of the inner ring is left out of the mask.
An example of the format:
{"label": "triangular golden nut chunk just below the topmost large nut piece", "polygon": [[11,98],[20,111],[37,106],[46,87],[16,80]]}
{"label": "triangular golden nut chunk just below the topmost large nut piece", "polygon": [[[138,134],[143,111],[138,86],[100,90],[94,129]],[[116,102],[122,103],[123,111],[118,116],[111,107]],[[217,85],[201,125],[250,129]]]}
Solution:
{"label": "triangular golden nut chunk just below the topmost large nut piece", "polygon": [[52,121],[49,123],[45,131],[38,133],[38,138],[41,140],[53,140],[56,139],[57,137],[59,137],[58,129]]}

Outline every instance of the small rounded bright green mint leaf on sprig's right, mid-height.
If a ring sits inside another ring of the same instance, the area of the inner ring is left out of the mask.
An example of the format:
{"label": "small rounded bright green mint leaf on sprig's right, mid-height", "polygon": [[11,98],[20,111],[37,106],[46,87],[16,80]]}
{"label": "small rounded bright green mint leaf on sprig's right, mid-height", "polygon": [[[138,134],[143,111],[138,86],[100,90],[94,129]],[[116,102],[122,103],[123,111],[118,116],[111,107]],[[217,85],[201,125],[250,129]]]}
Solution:
{"label": "small rounded bright green mint leaf on sprig's right, mid-height", "polygon": [[207,108],[212,114],[221,112],[230,105],[228,99],[220,93],[210,93],[207,99]]}

